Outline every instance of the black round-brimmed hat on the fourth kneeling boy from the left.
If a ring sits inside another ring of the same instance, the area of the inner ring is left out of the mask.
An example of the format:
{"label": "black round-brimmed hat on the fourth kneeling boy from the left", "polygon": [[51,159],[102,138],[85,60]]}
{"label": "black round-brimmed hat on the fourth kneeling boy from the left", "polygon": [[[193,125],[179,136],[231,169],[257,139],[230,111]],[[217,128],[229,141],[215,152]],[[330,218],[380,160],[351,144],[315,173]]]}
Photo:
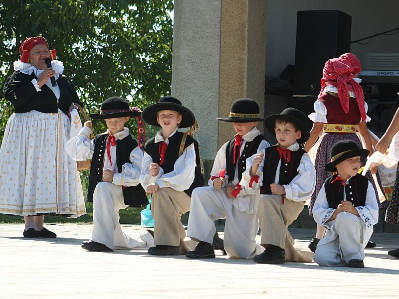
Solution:
{"label": "black round-brimmed hat on the fourth kneeling boy from the left", "polygon": [[309,130],[306,128],[307,117],[302,111],[290,107],[284,109],[280,114],[273,114],[265,118],[264,126],[274,136],[276,136],[274,132],[276,120],[290,122],[301,130],[301,138],[297,140],[299,144],[303,144],[309,139]]}

